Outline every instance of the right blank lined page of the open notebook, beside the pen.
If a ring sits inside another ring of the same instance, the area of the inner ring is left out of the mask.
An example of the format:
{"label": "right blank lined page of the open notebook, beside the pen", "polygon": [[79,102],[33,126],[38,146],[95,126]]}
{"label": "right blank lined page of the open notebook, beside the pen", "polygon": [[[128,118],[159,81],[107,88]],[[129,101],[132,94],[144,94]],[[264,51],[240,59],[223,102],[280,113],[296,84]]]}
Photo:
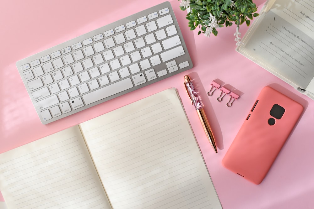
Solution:
{"label": "right blank lined page of the open notebook, beside the pen", "polygon": [[221,208],[175,89],[80,128],[114,209]]}

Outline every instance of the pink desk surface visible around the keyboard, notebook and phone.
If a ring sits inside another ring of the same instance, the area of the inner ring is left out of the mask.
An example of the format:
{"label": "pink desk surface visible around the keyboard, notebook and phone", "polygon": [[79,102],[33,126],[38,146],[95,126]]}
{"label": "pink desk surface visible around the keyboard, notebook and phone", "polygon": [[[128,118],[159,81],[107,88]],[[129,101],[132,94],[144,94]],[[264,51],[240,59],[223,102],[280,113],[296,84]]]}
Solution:
{"label": "pink desk surface visible around the keyboard, notebook and phone", "polygon": [[[194,67],[186,72],[102,103],[57,122],[42,125],[24,88],[15,62],[92,29],[111,23],[163,0],[120,1],[1,1],[0,8],[0,153],[170,87],[177,88],[223,208],[313,208],[314,205],[314,101],[235,51],[236,28],[220,28],[218,36],[197,36],[187,28],[179,2],[172,5],[185,36]],[[262,0],[254,1],[257,5]],[[94,6],[95,5],[95,6]],[[247,30],[241,26],[242,37]],[[194,40],[195,39],[195,40]],[[218,154],[209,145],[198,116],[187,97],[183,76],[189,74],[202,97],[216,136]],[[219,79],[241,92],[232,107],[219,91],[208,97],[210,83]],[[237,131],[264,86],[271,85],[300,102],[305,111],[268,175],[254,185],[221,165]],[[297,95],[298,94],[298,95]]]}

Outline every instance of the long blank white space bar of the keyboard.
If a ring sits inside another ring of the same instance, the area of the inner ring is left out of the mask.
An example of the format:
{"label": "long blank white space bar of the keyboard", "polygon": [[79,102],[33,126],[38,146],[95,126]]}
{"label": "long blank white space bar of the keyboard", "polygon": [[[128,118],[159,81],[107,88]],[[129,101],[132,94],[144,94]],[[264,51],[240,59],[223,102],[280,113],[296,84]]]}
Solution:
{"label": "long blank white space bar of the keyboard", "polygon": [[118,81],[109,86],[102,87],[90,93],[83,95],[83,99],[86,105],[91,104],[93,102],[97,102],[106,97],[110,97],[114,94],[117,94],[121,91],[125,91],[133,87],[133,83],[131,78],[124,79],[122,81]]}

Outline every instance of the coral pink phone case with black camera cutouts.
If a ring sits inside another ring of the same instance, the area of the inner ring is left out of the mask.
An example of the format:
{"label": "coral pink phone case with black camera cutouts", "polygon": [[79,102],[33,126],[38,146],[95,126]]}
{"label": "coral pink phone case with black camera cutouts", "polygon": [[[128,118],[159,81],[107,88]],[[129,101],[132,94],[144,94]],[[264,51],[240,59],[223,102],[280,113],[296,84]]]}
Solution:
{"label": "coral pink phone case with black camera cutouts", "polygon": [[244,179],[260,184],[303,112],[282,93],[263,88],[222,164]]}

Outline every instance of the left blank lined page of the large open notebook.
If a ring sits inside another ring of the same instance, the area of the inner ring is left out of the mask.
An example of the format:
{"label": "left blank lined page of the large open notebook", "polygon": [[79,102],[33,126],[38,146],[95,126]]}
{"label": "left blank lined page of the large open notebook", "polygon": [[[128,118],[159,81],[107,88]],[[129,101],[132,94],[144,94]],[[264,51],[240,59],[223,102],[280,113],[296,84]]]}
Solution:
{"label": "left blank lined page of the large open notebook", "polygon": [[0,154],[9,208],[111,208],[78,126]]}

